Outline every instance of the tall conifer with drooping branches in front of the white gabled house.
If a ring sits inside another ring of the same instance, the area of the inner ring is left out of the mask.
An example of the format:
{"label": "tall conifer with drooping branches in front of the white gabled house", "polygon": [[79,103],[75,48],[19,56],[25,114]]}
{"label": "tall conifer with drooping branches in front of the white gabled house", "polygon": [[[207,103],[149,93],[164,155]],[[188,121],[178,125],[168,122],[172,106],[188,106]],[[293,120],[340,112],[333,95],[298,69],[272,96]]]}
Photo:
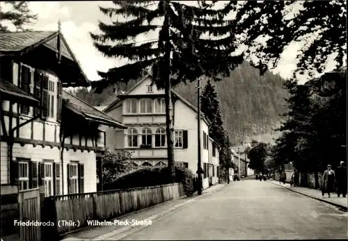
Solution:
{"label": "tall conifer with drooping branches in front of the white gabled house", "polygon": [[[231,55],[237,49],[234,20],[224,19],[237,3],[230,1],[214,10],[205,1],[194,2],[198,6],[177,1],[113,1],[116,8],[100,10],[110,17],[122,16],[125,21],[100,22],[102,34],[90,34],[95,47],[105,56],[129,60],[126,65],[99,72],[102,80],[93,82],[97,92],[113,83],[139,78],[147,67],[152,67],[153,83],[164,88],[168,167],[173,181],[171,88],[177,83],[196,81],[203,74],[215,79],[229,76],[230,69],[243,60],[242,55]],[[158,34],[151,40],[134,42],[139,35],[150,33]],[[207,35],[220,37],[204,38]]]}

